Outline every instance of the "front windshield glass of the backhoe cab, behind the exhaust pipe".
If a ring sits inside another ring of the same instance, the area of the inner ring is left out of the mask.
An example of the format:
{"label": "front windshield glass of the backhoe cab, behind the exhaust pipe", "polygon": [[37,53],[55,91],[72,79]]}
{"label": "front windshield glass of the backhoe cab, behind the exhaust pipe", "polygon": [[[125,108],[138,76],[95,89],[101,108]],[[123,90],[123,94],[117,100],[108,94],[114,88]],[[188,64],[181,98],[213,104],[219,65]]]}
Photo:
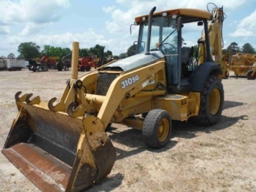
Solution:
{"label": "front windshield glass of the backhoe cab, behind the exhaust pipe", "polygon": [[[140,25],[140,33],[138,39],[138,52],[142,53],[146,50],[148,22]],[[177,30],[176,19],[171,17],[153,18],[151,31],[150,50],[161,50],[165,55],[177,54]]]}

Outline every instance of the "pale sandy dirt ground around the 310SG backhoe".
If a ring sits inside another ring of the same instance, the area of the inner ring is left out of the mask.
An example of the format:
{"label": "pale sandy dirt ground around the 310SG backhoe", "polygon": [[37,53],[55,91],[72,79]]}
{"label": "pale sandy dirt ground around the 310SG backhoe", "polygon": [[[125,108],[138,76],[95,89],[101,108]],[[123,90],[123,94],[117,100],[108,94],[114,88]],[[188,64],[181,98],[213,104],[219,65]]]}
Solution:
{"label": "pale sandy dirt ground around the 310SG backhoe", "polygon": [[[17,91],[59,98],[69,72],[0,71],[0,148],[17,115]],[[140,131],[113,124],[117,159],[112,172],[87,191],[256,191],[256,80],[223,80],[220,122],[173,123],[170,142],[152,150]],[[0,153],[0,191],[40,191]]]}

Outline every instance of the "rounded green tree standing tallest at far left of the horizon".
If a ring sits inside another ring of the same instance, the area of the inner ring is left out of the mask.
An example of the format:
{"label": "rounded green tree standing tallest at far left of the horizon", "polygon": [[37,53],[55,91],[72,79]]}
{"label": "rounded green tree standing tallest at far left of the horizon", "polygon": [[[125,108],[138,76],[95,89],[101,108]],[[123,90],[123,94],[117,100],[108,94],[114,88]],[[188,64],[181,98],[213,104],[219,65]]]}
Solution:
{"label": "rounded green tree standing tallest at far left of the horizon", "polygon": [[34,42],[22,42],[18,46],[18,52],[25,60],[39,57],[40,55],[39,50],[40,50],[40,47],[36,45]]}

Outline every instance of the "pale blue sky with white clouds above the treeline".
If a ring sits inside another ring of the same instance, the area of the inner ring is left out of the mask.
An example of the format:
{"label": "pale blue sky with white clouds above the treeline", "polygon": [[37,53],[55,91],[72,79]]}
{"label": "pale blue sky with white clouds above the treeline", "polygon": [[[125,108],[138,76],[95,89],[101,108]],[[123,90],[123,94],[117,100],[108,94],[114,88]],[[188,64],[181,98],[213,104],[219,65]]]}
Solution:
{"label": "pale blue sky with white clouds above the treeline", "polygon": [[[152,7],[157,11],[175,8],[206,9],[203,0],[0,0],[0,56],[17,56],[21,42],[33,41],[41,48],[80,48],[96,44],[119,55],[137,40],[138,30],[130,25],[134,17],[147,14]],[[224,48],[235,41],[242,47],[249,42],[256,48],[256,0],[211,0],[223,6],[227,18],[223,26]],[[191,35],[198,39],[200,32]],[[190,40],[190,39],[186,39]],[[196,41],[190,42],[196,44]]]}

